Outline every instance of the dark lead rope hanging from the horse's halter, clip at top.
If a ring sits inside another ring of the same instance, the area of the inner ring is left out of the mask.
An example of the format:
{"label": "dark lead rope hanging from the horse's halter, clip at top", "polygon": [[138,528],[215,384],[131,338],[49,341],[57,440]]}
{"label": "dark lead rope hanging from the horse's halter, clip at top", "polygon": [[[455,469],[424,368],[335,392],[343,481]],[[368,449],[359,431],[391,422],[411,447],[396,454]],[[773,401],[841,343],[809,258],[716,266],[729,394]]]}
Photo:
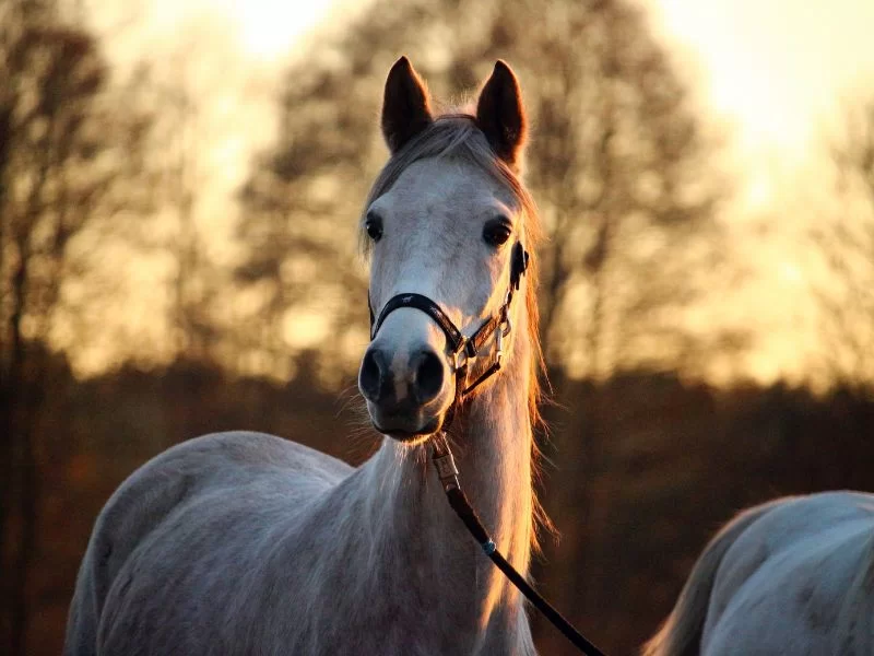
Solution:
{"label": "dark lead rope hanging from the horse's halter, clip at top", "polygon": [[461,490],[458,468],[452,458],[452,452],[449,450],[446,433],[438,433],[432,438],[432,460],[434,460],[434,467],[437,469],[437,476],[440,478],[440,484],[444,487],[449,505],[498,570],[504,572],[504,575],[525,596],[532,606],[541,611],[552,622],[553,626],[558,629],[580,652],[588,654],[588,656],[606,656],[604,652],[577,631],[574,624],[568,622],[538,590],[531,587],[524,577],[498,551],[495,541],[489,537],[476,511],[473,509],[470,501],[468,501],[466,494]]}

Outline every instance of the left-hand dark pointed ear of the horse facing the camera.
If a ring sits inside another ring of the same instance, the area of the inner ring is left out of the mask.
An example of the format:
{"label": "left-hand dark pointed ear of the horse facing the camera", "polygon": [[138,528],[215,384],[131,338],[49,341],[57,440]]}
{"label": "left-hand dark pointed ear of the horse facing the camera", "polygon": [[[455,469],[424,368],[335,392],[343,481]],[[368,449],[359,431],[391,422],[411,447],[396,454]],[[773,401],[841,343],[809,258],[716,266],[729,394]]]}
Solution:
{"label": "left-hand dark pointed ear of the horse facing the camera", "polygon": [[433,121],[428,91],[406,57],[394,62],[386,80],[382,137],[392,154]]}

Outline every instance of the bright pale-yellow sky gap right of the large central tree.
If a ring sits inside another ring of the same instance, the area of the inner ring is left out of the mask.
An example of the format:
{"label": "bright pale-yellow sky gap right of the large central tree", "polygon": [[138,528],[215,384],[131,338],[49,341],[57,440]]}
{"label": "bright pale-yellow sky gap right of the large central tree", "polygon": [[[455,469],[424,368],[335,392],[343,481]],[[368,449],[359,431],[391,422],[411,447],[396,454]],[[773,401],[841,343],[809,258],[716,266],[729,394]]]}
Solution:
{"label": "bright pale-yellow sky gap right of the large central tree", "polygon": [[646,4],[692,75],[705,119],[729,128],[739,198],[728,220],[753,276],[719,311],[727,323],[755,329],[746,373],[763,382],[808,376],[822,345],[811,302],[820,270],[805,234],[817,212],[831,209],[826,136],[846,103],[874,92],[874,2]]}

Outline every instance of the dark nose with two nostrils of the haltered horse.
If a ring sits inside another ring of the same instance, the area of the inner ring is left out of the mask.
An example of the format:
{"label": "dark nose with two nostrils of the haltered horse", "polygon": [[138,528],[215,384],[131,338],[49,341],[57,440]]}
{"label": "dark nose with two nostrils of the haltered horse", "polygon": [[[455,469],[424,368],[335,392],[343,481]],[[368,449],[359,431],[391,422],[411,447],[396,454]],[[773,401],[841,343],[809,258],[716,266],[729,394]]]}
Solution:
{"label": "dark nose with two nostrils of the haltered horse", "polygon": [[358,387],[371,403],[400,411],[403,406],[424,406],[440,394],[445,367],[430,349],[414,352],[399,371],[392,371],[391,363],[391,355],[378,347],[364,354]]}

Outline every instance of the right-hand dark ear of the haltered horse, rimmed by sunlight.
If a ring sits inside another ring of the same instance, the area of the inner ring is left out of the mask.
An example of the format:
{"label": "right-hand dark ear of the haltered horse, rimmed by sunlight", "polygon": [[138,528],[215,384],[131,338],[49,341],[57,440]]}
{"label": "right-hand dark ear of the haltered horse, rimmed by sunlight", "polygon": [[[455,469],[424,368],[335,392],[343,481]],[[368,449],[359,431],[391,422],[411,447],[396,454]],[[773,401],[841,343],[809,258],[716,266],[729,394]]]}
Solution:
{"label": "right-hand dark ear of the haltered horse, rimmed by sunlight", "polygon": [[511,168],[517,168],[528,124],[519,81],[510,67],[501,60],[495,63],[492,77],[480,92],[476,122],[498,157]]}

